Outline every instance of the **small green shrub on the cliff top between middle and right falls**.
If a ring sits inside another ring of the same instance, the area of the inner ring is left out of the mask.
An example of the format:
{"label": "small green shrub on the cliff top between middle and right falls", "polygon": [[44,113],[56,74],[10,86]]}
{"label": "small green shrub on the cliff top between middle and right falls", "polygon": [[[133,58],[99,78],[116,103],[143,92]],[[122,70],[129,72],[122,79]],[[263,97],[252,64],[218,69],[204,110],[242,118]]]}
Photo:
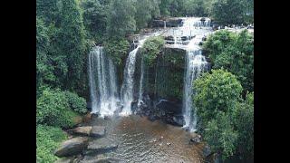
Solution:
{"label": "small green shrub on the cliff top between middle and right falls", "polygon": [[160,54],[164,44],[165,41],[160,36],[152,36],[145,41],[141,53],[144,54],[144,62],[147,65],[152,66],[156,62],[156,58]]}

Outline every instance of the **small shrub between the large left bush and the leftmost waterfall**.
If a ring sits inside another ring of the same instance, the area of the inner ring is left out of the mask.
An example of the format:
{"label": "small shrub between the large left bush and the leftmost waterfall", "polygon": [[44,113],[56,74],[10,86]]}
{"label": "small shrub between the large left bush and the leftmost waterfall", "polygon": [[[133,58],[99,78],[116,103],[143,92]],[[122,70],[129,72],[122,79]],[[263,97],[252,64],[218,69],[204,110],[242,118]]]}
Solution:
{"label": "small shrub between the large left bush and the leftmost waterfall", "polygon": [[70,91],[65,91],[65,95],[72,110],[81,114],[87,112],[85,99]]}

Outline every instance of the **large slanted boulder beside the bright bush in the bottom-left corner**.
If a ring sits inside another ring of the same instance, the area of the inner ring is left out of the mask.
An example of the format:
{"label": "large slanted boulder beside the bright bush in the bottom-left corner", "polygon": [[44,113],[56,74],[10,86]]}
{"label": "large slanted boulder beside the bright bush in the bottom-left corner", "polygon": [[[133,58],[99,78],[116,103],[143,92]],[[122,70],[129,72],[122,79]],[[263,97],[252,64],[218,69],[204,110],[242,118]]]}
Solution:
{"label": "large slanted boulder beside the bright bush in the bottom-left corner", "polygon": [[64,141],[54,155],[57,157],[69,157],[82,153],[82,150],[88,146],[88,138],[77,137]]}

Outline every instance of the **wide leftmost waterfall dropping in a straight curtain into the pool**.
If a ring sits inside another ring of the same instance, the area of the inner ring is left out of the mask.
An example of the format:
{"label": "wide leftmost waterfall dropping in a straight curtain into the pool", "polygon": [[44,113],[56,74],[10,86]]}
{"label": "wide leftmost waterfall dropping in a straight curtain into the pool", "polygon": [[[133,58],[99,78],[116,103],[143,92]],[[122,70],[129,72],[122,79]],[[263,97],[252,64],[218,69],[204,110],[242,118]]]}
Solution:
{"label": "wide leftmost waterfall dropping in a straight curtain into the pool", "polygon": [[[115,66],[103,52],[102,46],[95,46],[89,54],[89,81],[92,113],[101,116],[113,115],[118,108],[118,87]],[[97,84],[96,84],[97,79]]]}

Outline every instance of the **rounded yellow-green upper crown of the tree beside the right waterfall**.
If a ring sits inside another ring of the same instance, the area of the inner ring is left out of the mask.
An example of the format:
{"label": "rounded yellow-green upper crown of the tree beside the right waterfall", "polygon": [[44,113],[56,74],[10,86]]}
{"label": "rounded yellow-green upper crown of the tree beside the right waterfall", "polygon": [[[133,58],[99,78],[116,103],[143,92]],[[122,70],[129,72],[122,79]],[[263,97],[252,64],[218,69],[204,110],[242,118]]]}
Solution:
{"label": "rounded yellow-green upper crown of the tree beside the right waterfall", "polygon": [[194,82],[194,104],[202,122],[215,119],[219,111],[233,113],[240,100],[242,86],[237,77],[226,70],[212,70],[203,73]]}

